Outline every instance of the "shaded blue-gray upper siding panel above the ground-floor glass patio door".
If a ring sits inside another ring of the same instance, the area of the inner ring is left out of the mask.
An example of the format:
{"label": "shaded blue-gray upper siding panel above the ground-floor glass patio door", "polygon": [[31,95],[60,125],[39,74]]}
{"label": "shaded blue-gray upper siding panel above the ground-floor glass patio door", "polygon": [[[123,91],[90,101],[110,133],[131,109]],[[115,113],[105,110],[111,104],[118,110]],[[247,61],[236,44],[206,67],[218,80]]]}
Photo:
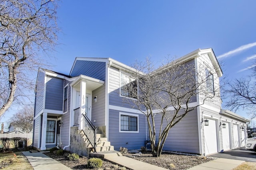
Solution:
{"label": "shaded blue-gray upper siding panel above the ground-floor glass patio door", "polygon": [[45,109],[63,109],[63,79],[47,76]]}

